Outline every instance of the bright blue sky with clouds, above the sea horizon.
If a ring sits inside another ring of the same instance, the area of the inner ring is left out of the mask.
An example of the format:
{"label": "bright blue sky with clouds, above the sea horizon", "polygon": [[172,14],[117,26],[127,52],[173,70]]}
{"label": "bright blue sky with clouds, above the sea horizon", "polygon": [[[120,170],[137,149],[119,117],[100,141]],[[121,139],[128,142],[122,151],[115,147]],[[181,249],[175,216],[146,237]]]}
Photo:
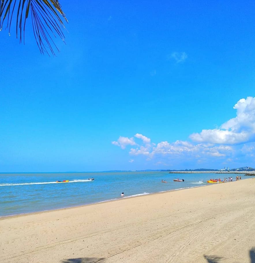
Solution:
{"label": "bright blue sky with clouds, above the sea horizon", "polygon": [[67,1],[41,55],[0,32],[0,172],[255,166],[255,3]]}

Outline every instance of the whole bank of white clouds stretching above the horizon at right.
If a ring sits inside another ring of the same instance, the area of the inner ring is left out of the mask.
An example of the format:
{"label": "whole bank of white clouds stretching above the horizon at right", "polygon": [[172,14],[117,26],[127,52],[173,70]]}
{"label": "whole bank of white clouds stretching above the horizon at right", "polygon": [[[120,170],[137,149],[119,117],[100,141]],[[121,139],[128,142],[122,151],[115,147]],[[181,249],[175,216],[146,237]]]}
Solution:
{"label": "whole bank of white clouds stretching above the horizon at right", "polygon": [[132,162],[135,162],[135,156],[140,155],[156,165],[181,164],[184,160],[196,164],[249,161],[255,155],[255,97],[240,99],[233,108],[237,110],[235,118],[223,123],[219,129],[203,129],[200,133],[191,134],[191,142],[177,140],[155,144],[150,138],[137,133],[131,138],[119,136],[112,144],[121,149],[131,146]]}

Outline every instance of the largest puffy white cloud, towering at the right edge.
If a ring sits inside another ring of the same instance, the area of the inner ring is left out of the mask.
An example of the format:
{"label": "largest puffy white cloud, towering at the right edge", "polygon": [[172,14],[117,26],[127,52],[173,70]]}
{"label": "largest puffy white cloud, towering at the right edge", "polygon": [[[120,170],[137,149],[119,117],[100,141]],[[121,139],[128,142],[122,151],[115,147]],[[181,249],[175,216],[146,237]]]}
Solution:
{"label": "largest puffy white cloud, towering at the right edge", "polygon": [[237,116],[223,123],[220,129],[202,130],[190,138],[195,142],[232,145],[255,140],[255,97],[240,99],[233,108]]}

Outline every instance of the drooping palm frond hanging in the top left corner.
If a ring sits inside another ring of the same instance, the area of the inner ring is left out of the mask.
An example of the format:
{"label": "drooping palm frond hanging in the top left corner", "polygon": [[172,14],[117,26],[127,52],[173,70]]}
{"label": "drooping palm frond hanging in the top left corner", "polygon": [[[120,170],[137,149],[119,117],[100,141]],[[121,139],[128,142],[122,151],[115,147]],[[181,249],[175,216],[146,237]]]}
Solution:
{"label": "drooping palm frond hanging in the top left corner", "polygon": [[[65,28],[62,19],[67,23],[67,18],[61,9],[58,0],[0,0],[0,31],[6,22],[6,28],[11,31],[12,18],[16,16],[16,38],[20,38],[20,43],[25,39],[26,20],[31,15],[33,33],[39,50],[42,54],[52,53],[54,49],[59,49],[55,45],[52,37],[59,36],[63,42]],[[61,19],[62,17],[62,19]],[[54,48],[55,47],[55,48]]]}

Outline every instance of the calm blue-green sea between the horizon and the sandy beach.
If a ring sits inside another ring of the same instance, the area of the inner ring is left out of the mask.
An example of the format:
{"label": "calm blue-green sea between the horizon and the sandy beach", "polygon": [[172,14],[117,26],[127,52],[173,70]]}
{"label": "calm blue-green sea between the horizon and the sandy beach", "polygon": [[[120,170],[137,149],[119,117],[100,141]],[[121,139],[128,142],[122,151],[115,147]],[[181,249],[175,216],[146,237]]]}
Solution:
{"label": "calm blue-green sea between the horizon and the sandy beach", "polygon": [[[0,174],[0,216],[53,210],[98,203],[180,188],[206,186],[207,180],[224,174],[168,172],[105,173],[2,173]],[[94,177],[94,181],[88,178]],[[173,179],[184,179],[174,182]],[[235,175],[233,175],[233,179]],[[250,177],[248,177],[250,178]],[[162,183],[161,180],[167,183]],[[247,179],[242,176],[242,179]],[[56,181],[70,180],[68,183]]]}

